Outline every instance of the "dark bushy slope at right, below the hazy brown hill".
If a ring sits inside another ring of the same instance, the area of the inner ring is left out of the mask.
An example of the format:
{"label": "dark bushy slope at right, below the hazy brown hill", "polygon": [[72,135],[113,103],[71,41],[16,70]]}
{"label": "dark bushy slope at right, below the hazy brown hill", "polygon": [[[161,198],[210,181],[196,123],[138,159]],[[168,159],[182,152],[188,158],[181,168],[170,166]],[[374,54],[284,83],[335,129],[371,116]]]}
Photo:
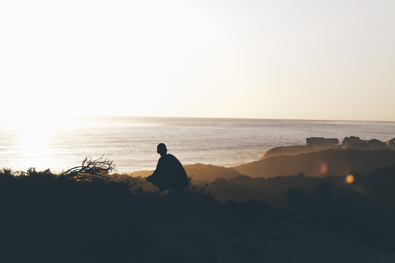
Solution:
{"label": "dark bushy slope at right, below the hazy brown hill", "polygon": [[[347,175],[353,175],[355,181],[346,182]],[[273,214],[278,216],[277,220],[307,218],[319,233],[329,227],[372,246],[394,243],[395,165],[368,176],[355,171],[347,175],[321,178],[299,173],[267,179],[240,175],[229,180],[217,178],[210,187],[221,201],[231,199],[227,201],[231,207],[238,202],[237,205],[244,204],[251,211],[265,211],[266,221]],[[260,203],[252,208],[251,204],[247,205],[248,200]],[[263,208],[265,203],[272,205],[270,210]],[[251,211],[242,214],[251,214]],[[246,220],[244,215],[239,216]],[[257,217],[263,218],[262,215]]]}

